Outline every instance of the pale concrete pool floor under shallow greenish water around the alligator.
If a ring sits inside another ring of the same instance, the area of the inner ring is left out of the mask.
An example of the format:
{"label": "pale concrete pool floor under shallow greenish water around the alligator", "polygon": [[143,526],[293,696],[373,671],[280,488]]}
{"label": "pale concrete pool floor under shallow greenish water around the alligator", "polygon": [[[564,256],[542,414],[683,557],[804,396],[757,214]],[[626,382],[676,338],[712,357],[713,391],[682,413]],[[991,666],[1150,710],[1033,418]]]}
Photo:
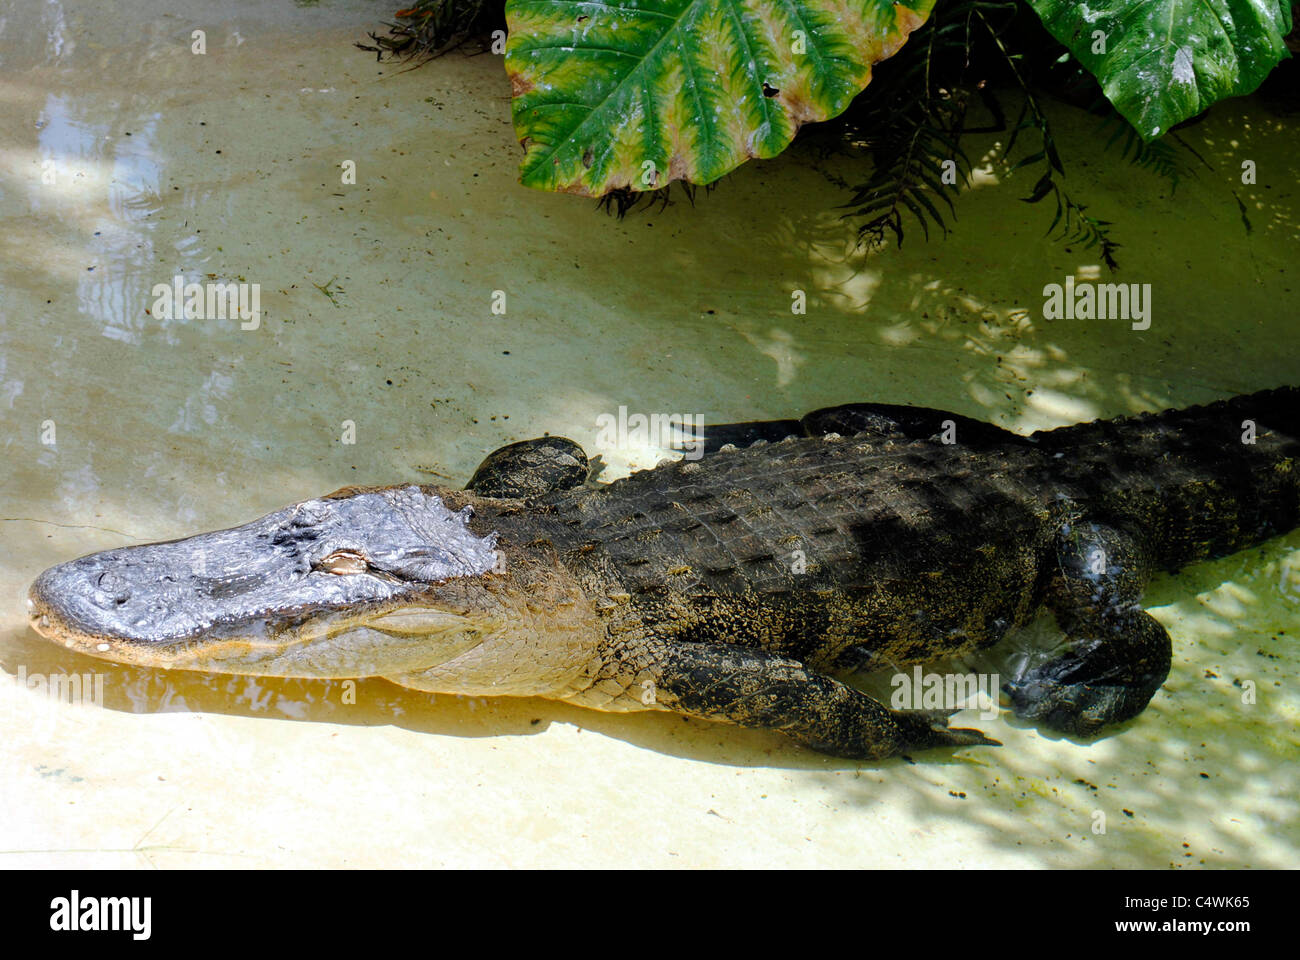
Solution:
{"label": "pale concrete pool floor under shallow greenish water around the alligator", "polygon": [[[915,764],[381,680],[354,704],[339,683],[116,667],[30,632],[26,585],[82,553],[348,483],[463,481],[547,431],[608,476],[653,464],[598,447],[619,406],[733,420],[880,399],[1030,431],[1300,381],[1300,160],[1266,104],[1184,131],[1208,167],[1174,198],[1057,111],[1067,186],[1124,245],[1117,280],[1152,285],[1135,332],[1043,317],[1044,285],[1096,254],[1043,238],[1005,135],[979,142],[946,241],[854,254],[844,194],[798,155],[620,222],[516,185],[497,57],[402,72],[354,49],[381,7],[0,17],[0,865],[1300,862],[1296,533],[1152,585],[1175,660],[1138,721],[1076,743],[959,714],[1005,747]],[[260,329],[151,316],[177,273],[260,284]],[[52,702],[32,679],[51,674],[100,678],[103,705]]]}

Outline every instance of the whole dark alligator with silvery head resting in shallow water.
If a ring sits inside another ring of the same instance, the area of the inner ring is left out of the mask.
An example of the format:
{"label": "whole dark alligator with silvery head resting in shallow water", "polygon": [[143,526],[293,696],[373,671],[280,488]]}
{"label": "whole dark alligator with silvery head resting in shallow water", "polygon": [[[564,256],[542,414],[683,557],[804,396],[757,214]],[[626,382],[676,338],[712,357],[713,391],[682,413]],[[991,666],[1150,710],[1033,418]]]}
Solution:
{"label": "whole dark alligator with silvery head resting in shallow water", "polygon": [[846,670],[962,657],[1046,606],[1063,653],[1002,692],[1092,736],[1169,673],[1140,605],[1152,572],[1297,526],[1297,398],[1030,436],[853,403],[708,428],[706,455],[614,483],[541,437],[464,489],[347,487],[55,566],[29,614],[118,662],[670,710],[879,760],[996,741],[952,712],[889,709]]}

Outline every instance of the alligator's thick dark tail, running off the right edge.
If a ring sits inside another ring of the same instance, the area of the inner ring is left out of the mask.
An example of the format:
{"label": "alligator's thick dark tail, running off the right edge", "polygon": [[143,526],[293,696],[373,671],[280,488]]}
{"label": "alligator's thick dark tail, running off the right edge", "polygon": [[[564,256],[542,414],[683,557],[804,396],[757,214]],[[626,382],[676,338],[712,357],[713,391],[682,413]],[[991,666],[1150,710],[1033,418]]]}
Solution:
{"label": "alligator's thick dark tail, running off the right edge", "polygon": [[1035,434],[1067,496],[1141,535],[1166,570],[1300,524],[1300,390]]}

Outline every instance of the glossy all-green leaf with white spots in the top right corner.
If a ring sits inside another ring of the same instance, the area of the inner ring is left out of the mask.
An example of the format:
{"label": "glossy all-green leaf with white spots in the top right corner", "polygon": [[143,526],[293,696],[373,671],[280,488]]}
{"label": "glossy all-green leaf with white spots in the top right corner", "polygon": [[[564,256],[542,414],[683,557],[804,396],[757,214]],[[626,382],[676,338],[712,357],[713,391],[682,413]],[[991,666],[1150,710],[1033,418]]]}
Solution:
{"label": "glossy all-green leaf with white spots in the top right corner", "polygon": [[1030,0],[1043,23],[1152,140],[1249,94],[1288,56],[1290,0]]}

